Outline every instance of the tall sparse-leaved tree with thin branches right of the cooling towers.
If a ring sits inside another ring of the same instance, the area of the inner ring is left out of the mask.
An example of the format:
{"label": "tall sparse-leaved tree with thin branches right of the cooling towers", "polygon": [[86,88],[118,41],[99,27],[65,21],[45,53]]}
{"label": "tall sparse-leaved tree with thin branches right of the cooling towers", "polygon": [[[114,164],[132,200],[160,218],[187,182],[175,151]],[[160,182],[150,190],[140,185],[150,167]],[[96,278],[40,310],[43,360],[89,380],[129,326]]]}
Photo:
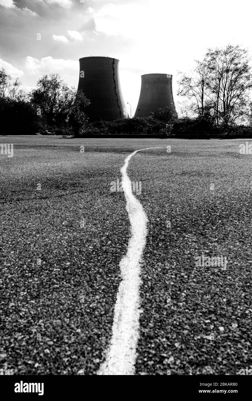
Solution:
{"label": "tall sparse-leaved tree with thin branches right of the cooling towers", "polygon": [[213,117],[216,126],[251,123],[252,71],[246,49],[228,45],[208,49],[195,61],[190,74],[182,74],[178,95],[185,97],[187,115]]}

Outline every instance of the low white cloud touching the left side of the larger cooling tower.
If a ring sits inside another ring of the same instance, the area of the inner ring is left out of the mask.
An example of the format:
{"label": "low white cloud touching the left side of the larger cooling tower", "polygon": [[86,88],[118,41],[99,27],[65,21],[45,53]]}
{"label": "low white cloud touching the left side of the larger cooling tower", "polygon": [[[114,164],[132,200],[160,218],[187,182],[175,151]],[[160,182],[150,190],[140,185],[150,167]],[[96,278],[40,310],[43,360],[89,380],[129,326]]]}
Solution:
{"label": "low white cloud touching the left side of the larger cooling tower", "polygon": [[33,75],[59,73],[65,76],[76,76],[79,74],[78,60],[53,59],[53,57],[43,57],[40,60],[35,57],[26,57],[26,68]]}

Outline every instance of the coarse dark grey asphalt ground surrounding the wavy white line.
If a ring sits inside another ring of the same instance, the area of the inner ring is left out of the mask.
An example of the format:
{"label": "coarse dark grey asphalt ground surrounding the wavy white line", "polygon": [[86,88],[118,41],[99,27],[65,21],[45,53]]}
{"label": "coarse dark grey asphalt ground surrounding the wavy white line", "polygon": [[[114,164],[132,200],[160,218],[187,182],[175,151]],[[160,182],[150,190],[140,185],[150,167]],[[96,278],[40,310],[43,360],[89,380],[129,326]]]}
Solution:
{"label": "coarse dark grey asphalt ground surrounding the wavy white line", "polygon": [[[104,361],[130,225],[148,217],[136,375],[236,375],[251,355],[251,155],[246,140],[1,137],[0,368],[93,375]],[[166,147],[171,146],[171,153]],[[80,152],[80,146],[85,146]],[[38,190],[41,184],[41,190]],[[227,268],[195,267],[226,256]]]}

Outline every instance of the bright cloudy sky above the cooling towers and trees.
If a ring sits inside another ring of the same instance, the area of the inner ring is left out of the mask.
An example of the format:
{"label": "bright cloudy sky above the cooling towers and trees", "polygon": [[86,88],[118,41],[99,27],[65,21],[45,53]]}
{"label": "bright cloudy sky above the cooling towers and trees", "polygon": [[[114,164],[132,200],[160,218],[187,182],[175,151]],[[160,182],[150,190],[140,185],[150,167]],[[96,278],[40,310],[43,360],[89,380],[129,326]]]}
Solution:
{"label": "bright cloudy sky above the cooling towers and trees", "polygon": [[26,90],[50,72],[77,87],[79,57],[115,57],[134,114],[142,74],[173,74],[176,102],[177,71],[208,47],[251,50],[251,11],[248,0],[0,0],[0,67]]}

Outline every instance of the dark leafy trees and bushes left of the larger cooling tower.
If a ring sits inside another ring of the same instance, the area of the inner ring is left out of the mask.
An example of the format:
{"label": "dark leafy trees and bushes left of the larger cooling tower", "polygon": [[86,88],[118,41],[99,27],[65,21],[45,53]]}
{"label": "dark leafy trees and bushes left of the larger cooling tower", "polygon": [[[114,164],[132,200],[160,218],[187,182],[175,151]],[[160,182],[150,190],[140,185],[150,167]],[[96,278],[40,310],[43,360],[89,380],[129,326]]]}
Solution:
{"label": "dark leafy trees and bushes left of the larger cooling tower", "polygon": [[21,85],[0,70],[0,117],[11,128],[6,134],[81,135],[87,124],[83,107],[90,104],[81,91],[69,87],[59,74],[44,75],[30,93]]}

